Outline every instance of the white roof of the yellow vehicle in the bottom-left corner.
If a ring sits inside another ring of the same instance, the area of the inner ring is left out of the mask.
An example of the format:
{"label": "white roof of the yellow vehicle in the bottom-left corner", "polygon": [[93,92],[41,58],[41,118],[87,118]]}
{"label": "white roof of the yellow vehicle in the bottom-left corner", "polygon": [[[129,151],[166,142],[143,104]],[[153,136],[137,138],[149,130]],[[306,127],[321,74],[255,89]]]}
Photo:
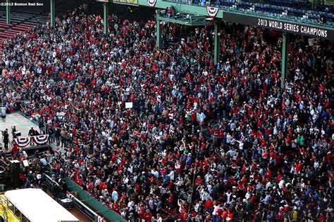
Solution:
{"label": "white roof of the yellow vehicle in the bottom-left corner", "polygon": [[79,221],[43,190],[34,188],[9,190],[5,195],[32,222]]}

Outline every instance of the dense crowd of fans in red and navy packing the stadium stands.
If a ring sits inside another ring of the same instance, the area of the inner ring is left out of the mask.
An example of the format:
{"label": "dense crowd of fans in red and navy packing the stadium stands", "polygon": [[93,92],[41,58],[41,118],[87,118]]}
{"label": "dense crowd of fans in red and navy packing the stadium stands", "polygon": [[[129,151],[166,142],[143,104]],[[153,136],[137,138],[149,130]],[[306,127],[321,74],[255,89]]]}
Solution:
{"label": "dense crowd of fans in red and navy packing the stadium stands", "polygon": [[263,30],[223,24],[214,65],[211,27],[165,24],[158,49],[154,21],[109,22],[75,11],[4,46],[6,107],[47,127],[55,178],[129,221],[333,221],[333,44],[293,37],[280,89]]}

